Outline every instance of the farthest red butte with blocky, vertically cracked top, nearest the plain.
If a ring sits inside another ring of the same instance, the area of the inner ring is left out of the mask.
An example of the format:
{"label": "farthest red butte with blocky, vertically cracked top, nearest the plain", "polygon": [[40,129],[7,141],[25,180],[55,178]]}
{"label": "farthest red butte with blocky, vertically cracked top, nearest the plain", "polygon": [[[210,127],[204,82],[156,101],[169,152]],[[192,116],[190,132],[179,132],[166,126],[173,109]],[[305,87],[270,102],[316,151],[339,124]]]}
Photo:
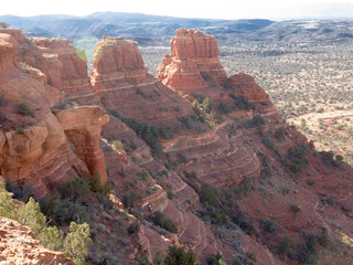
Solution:
{"label": "farthest red butte with blocky, vertically cracked top, nearest the plain", "polygon": [[193,93],[210,85],[223,86],[227,78],[218,60],[217,41],[199,30],[176,30],[171,55],[158,67],[158,78],[174,91]]}

